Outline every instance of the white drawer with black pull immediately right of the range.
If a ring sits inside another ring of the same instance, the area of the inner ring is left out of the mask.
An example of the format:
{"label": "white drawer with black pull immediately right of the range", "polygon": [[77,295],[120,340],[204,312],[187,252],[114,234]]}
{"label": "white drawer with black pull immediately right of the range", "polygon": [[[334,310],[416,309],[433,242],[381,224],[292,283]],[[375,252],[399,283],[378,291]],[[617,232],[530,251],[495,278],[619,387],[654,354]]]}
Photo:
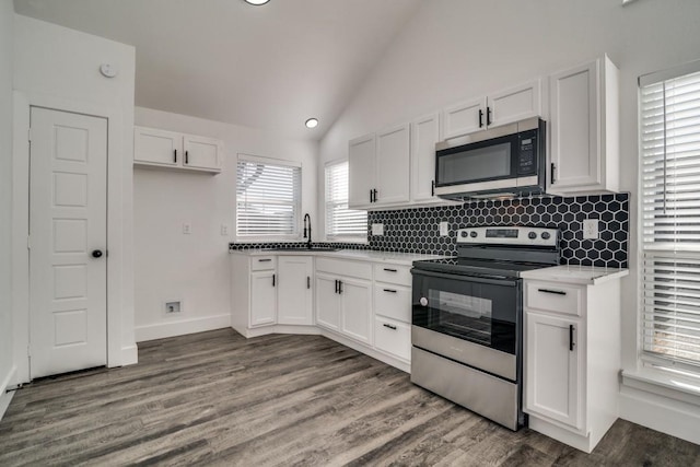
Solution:
{"label": "white drawer with black pull immediately right of the range", "polygon": [[582,316],[584,293],[580,287],[555,282],[525,282],[525,307]]}

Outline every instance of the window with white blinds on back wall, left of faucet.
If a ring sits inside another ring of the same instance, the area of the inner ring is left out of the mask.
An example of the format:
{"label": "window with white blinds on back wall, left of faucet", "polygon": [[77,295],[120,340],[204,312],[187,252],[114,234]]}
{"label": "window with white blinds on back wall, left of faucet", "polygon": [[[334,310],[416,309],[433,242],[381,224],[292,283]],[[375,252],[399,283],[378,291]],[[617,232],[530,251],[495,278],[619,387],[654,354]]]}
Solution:
{"label": "window with white blinds on back wall, left of faucet", "polygon": [[298,238],[301,179],[299,163],[238,154],[236,236]]}

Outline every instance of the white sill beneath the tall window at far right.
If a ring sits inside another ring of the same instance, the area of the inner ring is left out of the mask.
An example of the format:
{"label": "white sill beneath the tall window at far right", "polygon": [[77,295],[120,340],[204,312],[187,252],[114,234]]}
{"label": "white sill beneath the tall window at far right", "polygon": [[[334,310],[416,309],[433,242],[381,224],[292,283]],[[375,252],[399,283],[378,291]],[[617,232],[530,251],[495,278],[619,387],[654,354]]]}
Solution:
{"label": "white sill beneath the tall window at far right", "polygon": [[700,406],[700,378],[670,375],[651,369],[622,371],[622,385]]}

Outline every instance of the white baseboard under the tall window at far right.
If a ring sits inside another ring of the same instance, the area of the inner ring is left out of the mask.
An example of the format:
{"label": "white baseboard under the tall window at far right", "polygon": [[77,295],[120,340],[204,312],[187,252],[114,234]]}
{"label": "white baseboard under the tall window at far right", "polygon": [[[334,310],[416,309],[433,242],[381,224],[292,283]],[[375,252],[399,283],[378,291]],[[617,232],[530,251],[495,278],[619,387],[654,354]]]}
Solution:
{"label": "white baseboard under the tall window at far right", "polygon": [[620,418],[700,444],[700,407],[622,385]]}

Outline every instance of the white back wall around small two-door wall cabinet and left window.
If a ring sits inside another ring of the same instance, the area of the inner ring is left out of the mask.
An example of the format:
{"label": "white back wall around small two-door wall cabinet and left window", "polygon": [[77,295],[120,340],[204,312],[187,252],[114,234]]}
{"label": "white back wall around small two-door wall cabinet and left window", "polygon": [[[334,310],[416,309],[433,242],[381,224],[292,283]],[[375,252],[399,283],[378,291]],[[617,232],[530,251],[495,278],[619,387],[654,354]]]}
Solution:
{"label": "white back wall around small two-door wall cabinet and left window", "polygon": [[[137,341],[229,326],[236,154],[301,162],[302,212],[317,221],[318,144],[141,107],[136,124],[221,139],[225,154],[219,175],[135,170]],[[183,234],[185,222],[191,234]],[[229,226],[228,236],[221,235],[222,224]],[[184,311],[165,315],[168,300],[182,300]]]}

